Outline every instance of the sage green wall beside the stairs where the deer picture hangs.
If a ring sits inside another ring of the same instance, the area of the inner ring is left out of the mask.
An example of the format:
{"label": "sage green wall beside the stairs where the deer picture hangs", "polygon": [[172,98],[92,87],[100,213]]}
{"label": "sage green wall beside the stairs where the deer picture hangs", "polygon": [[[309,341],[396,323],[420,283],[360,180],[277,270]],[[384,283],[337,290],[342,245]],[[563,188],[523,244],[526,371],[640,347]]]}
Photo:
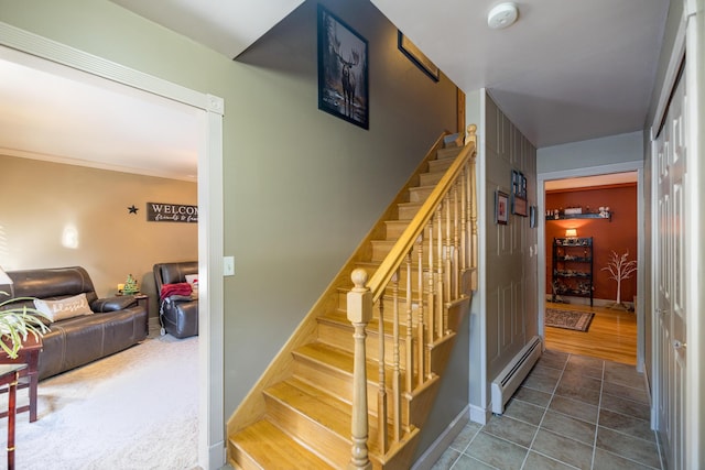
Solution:
{"label": "sage green wall beside the stairs where the deer picture hangs", "polygon": [[413,66],[371,3],[322,3],[369,42],[369,130],[317,109],[314,1],[234,62],[106,0],[0,0],[7,23],[225,99],[226,417],[455,127],[455,86]]}

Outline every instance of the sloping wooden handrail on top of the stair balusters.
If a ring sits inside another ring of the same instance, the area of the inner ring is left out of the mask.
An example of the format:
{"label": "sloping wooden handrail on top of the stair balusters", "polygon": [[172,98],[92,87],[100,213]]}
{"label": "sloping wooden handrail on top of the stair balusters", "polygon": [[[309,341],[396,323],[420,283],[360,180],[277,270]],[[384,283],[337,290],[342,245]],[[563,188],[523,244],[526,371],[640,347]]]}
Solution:
{"label": "sloping wooden handrail on top of the stair balusters", "polygon": [[[401,266],[401,263],[404,261],[406,253],[411,251],[416,239],[422,233],[433,215],[435,214],[436,208],[443,201],[445,195],[451,190],[455,181],[460,176],[460,173],[470,157],[475,157],[477,154],[477,125],[470,124],[468,125],[468,135],[465,140],[465,146],[457,155],[453,164],[445,172],[436,187],[433,189],[429,198],[423,203],[416,215],[413,217],[409,226],[404,229],[401,237],[397,243],[394,243],[393,248],[390,250],[389,254],[384,258],[384,261],[379,265],[375,274],[370,277],[367,286],[372,292],[372,302],[379,300],[379,297],[384,293],[384,288],[391,281],[392,276],[397,272],[397,270]],[[475,188],[475,184],[473,182],[473,189]],[[474,196],[474,199],[477,200]],[[474,211],[476,208],[474,208]],[[475,214],[475,218],[477,215]],[[473,263],[477,262],[475,258],[477,254],[477,229],[475,227],[476,221],[468,221],[471,226],[473,237],[471,237],[471,260]],[[469,266],[477,267],[474,265]]]}

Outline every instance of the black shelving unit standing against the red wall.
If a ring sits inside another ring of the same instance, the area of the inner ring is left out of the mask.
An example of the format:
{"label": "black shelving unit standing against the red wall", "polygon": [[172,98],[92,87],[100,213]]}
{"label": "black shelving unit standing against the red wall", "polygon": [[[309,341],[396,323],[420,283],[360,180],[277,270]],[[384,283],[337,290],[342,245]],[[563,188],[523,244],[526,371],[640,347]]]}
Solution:
{"label": "black shelving unit standing against the red wall", "polygon": [[593,237],[553,239],[553,296],[589,297],[593,306]]}

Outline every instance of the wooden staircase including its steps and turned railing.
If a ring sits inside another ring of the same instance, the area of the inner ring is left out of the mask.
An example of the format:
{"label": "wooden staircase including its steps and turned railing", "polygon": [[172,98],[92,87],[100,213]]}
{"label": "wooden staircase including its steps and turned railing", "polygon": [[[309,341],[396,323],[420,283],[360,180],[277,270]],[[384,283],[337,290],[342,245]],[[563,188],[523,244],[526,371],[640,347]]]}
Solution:
{"label": "wooden staircase including its steps and turned railing", "polygon": [[475,288],[469,129],[438,139],[230,418],[236,469],[411,467]]}

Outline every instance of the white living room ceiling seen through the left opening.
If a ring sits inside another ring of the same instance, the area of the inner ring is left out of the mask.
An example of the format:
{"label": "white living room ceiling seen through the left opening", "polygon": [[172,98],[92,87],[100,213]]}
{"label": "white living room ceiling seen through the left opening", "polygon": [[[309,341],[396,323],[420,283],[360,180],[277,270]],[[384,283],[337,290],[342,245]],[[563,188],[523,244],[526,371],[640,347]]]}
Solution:
{"label": "white living room ceiling seen through the left opening", "polygon": [[0,154],[197,179],[195,108],[0,47]]}

